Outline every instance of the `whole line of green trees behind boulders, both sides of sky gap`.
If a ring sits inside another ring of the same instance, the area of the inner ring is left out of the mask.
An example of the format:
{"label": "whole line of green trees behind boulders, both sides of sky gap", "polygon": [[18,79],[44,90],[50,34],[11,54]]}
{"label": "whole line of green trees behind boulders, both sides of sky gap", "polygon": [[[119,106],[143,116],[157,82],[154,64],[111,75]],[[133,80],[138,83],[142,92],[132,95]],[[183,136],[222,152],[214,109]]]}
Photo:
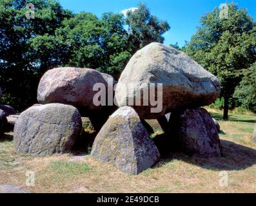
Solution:
{"label": "whole line of green trees behind boulders, both sides of sky gap", "polygon": [[[35,18],[27,18],[26,5]],[[223,9],[226,15],[221,17]],[[222,12],[222,13],[221,13]],[[217,104],[242,106],[256,112],[256,24],[235,3],[204,15],[183,48],[221,80]],[[118,79],[130,57],[150,42],[164,42],[166,21],[140,4],[123,14],[101,17],[64,10],[55,0],[0,1],[0,87],[3,103],[18,111],[36,102],[37,85],[46,70],[58,66],[93,68]]]}

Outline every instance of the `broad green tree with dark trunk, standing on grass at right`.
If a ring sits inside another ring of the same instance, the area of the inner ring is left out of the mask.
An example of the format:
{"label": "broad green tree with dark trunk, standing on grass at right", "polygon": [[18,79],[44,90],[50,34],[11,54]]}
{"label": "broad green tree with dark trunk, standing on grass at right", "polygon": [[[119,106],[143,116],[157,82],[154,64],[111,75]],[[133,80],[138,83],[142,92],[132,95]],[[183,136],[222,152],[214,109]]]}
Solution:
{"label": "broad green tree with dark trunk, standing on grass at right", "polygon": [[242,77],[242,69],[255,62],[256,27],[245,9],[228,5],[228,18],[218,8],[201,18],[201,26],[186,47],[186,53],[221,81],[224,98],[223,119],[228,120],[228,105]]}

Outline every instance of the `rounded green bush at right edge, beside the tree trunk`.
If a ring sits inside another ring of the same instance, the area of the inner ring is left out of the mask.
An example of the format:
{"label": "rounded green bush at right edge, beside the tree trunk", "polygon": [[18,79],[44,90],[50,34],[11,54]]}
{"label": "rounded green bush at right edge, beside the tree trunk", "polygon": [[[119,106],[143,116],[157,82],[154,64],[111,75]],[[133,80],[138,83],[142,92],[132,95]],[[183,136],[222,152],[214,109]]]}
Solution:
{"label": "rounded green bush at right edge, beside the tree trunk", "polygon": [[234,97],[239,99],[243,108],[256,113],[256,62],[244,70],[244,77],[235,89]]}

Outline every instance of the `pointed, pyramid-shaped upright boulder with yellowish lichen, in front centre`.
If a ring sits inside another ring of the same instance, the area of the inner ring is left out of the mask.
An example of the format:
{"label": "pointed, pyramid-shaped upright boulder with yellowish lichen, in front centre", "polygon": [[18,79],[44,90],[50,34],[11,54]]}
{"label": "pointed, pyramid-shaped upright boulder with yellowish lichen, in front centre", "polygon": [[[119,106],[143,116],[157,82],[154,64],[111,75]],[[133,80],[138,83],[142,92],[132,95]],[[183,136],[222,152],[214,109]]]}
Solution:
{"label": "pointed, pyramid-shaped upright boulder with yellowish lichen, in front centre", "polygon": [[120,108],[110,116],[95,138],[92,156],[130,174],[141,173],[160,158],[139,116],[130,107]]}

